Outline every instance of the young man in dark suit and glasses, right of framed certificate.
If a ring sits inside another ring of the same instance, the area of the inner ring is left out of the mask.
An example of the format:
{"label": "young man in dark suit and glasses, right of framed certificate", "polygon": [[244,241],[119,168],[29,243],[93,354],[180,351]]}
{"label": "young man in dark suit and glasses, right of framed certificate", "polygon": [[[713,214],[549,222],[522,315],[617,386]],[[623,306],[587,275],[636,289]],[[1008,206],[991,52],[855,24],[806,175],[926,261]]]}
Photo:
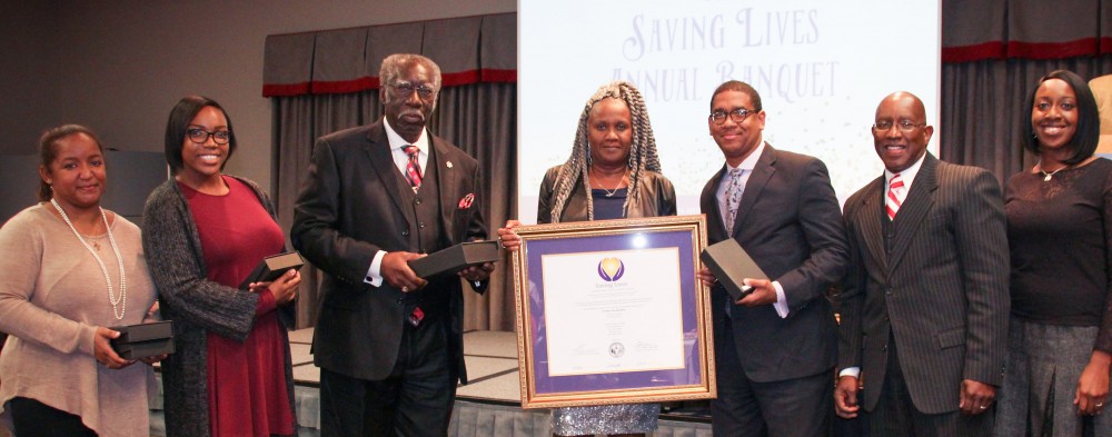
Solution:
{"label": "young man in dark suit and glasses, right of framed certificate", "polygon": [[[712,289],[716,436],[824,436],[837,344],[827,288],[845,271],[846,242],[826,166],[762,138],[761,96],[744,82],[714,91],[707,125],[726,163],[699,205],[715,244],[734,238],[768,279],[737,300]],[[706,268],[701,278],[714,282]]]}

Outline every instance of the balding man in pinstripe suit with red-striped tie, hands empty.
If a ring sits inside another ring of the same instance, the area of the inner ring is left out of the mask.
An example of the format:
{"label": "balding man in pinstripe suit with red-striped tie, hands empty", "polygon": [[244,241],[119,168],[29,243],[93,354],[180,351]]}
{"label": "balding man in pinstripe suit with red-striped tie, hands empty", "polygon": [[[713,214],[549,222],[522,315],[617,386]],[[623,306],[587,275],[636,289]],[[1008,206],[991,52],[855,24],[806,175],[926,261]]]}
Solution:
{"label": "balding man in pinstripe suit with red-striped tie, hands empty", "polygon": [[873,436],[987,436],[1007,338],[1009,258],[1000,183],[926,152],[934,129],[907,92],[876,108],[884,175],[845,202],[835,406]]}

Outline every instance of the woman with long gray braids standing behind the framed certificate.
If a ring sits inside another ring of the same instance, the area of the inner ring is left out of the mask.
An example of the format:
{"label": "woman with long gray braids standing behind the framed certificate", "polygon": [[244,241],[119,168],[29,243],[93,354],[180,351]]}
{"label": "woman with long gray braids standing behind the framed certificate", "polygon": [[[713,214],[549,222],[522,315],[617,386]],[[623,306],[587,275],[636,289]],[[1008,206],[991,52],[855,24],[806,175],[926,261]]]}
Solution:
{"label": "woman with long gray braids standing behind the framed certificate", "polygon": [[[676,215],[676,192],[663,175],[656,140],[641,91],[629,82],[607,83],[587,100],[572,156],[548,169],[540,182],[537,222],[606,220]],[[520,245],[509,220],[498,236],[509,250]],[[659,404],[556,408],[557,436],[644,435],[656,429]]]}

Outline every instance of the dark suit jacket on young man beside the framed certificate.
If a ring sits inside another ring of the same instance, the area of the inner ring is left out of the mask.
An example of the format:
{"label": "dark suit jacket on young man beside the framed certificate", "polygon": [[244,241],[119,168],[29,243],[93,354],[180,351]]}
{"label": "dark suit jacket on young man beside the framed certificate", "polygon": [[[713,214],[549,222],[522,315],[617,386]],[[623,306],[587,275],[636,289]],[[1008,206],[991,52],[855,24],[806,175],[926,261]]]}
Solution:
{"label": "dark suit jacket on young man beside the framed certificate", "polygon": [[784,287],[790,311],[787,318],[781,318],[772,305],[734,305],[727,319],[724,308],[729,297],[716,286],[712,290],[715,332],[733,330],[742,370],[755,381],[830,370],[836,362],[837,342],[826,291],[845,271],[847,248],[826,166],[765,143],[729,234],[715,197],[725,171],[723,166],[699,197],[708,240],[736,239],[761,270]]}

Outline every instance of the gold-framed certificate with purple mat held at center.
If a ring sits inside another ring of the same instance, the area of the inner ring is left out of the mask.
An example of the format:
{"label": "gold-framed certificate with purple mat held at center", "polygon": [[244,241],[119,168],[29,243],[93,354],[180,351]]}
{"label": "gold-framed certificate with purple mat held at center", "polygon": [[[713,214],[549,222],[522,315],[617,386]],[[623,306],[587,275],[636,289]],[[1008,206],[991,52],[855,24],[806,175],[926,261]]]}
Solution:
{"label": "gold-framed certificate with purple mat held at center", "polygon": [[703,216],[515,231],[522,407],[715,397]]}

